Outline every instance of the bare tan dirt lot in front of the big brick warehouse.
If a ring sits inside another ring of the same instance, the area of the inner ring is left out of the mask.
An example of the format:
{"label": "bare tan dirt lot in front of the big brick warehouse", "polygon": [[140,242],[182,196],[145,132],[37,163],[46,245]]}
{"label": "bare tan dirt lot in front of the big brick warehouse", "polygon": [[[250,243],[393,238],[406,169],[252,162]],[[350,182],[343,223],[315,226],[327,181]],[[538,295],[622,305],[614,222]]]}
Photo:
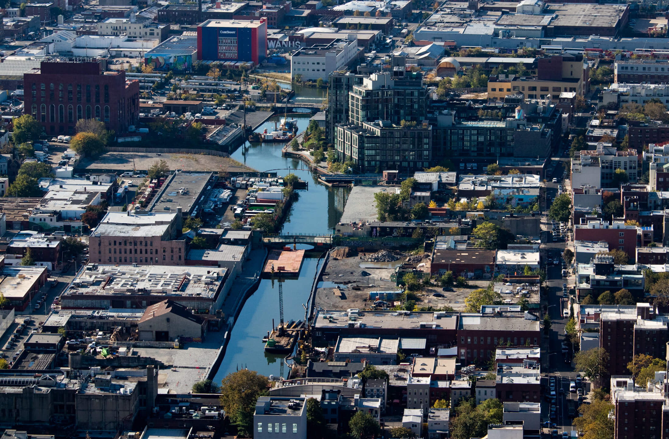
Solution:
{"label": "bare tan dirt lot in front of the big brick warehouse", "polygon": [[[59,155],[60,157],[60,155]],[[217,155],[189,154],[189,153],[156,153],[149,152],[107,152],[92,161],[84,158],[77,167],[78,170],[127,170],[131,171],[133,166],[136,170],[146,171],[157,160],[165,160],[171,169],[185,171],[225,171],[225,172],[250,172],[248,166],[227,157]]]}

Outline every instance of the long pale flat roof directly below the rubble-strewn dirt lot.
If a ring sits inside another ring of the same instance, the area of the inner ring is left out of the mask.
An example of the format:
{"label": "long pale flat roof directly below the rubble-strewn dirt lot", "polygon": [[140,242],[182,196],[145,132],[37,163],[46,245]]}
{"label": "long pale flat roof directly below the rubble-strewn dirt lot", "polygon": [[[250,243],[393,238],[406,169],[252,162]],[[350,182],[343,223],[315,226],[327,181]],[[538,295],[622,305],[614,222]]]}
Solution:
{"label": "long pale flat roof directly below the rubble-strewn dirt lot", "polygon": [[[436,316],[442,317],[436,317]],[[349,325],[347,311],[318,310],[316,312],[316,328],[347,328]],[[418,329],[425,323],[427,329],[455,330],[458,316],[438,314],[434,312],[399,312],[399,311],[365,311],[359,312],[355,322],[365,324],[368,330],[381,328]]]}

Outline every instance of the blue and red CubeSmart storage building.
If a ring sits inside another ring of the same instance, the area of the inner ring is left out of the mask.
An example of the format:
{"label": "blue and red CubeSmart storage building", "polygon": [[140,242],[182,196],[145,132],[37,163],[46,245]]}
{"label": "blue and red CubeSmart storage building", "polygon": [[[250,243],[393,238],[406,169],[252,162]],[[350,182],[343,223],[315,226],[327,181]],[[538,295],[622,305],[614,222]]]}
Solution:
{"label": "blue and red CubeSmart storage building", "polygon": [[197,26],[197,59],[254,62],[267,56],[267,19],[215,20]]}

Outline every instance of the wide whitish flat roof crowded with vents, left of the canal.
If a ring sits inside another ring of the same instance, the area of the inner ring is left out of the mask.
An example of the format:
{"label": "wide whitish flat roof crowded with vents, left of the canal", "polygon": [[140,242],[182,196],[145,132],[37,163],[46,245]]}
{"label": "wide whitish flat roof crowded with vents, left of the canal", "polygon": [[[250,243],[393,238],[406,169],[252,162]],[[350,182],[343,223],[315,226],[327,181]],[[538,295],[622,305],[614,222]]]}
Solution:
{"label": "wide whitish flat roof crowded with vents, left of the canal", "polygon": [[201,296],[213,298],[225,276],[225,268],[178,267],[170,265],[88,264],[63,294]]}

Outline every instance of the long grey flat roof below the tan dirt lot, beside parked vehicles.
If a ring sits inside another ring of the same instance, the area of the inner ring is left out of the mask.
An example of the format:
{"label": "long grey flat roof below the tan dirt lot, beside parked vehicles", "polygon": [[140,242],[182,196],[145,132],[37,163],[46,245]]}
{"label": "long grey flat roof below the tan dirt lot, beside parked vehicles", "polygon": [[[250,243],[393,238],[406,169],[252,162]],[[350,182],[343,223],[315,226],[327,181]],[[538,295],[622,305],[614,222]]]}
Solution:
{"label": "long grey flat roof below the tan dirt lot, beside parked vehicles", "polygon": [[[181,101],[181,105],[185,105],[183,102]],[[183,214],[191,214],[195,208],[195,202],[199,201],[199,195],[207,187],[212,175],[213,172],[181,171],[177,173],[167,184],[160,198],[154,201],[151,210],[162,210],[166,205],[173,206],[176,210],[181,206]]]}

